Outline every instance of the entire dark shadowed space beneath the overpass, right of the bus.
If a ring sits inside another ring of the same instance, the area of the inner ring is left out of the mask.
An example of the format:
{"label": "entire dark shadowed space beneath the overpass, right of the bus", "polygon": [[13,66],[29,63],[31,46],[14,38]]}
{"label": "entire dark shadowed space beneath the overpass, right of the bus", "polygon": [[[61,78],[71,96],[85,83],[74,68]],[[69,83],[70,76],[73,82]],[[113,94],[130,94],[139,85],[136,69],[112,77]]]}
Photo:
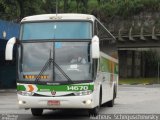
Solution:
{"label": "entire dark shadowed space beneath the overpass, right of the bus", "polygon": [[157,78],[158,62],[160,63],[160,48],[119,50],[119,76]]}

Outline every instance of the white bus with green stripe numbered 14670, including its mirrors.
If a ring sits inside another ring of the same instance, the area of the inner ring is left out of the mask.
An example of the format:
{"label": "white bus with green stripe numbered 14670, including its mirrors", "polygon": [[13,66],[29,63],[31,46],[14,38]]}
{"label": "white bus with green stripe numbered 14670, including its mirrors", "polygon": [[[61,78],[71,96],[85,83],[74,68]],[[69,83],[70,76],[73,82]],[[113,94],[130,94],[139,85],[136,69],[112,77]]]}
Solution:
{"label": "white bus with green stripe numbered 14670, including its mirrors", "polygon": [[12,60],[15,44],[19,108],[31,109],[34,116],[44,109],[86,109],[97,115],[102,104],[113,106],[118,84],[115,38],[94,16],[25,17],[19,38],[6,45],[6,60]]}

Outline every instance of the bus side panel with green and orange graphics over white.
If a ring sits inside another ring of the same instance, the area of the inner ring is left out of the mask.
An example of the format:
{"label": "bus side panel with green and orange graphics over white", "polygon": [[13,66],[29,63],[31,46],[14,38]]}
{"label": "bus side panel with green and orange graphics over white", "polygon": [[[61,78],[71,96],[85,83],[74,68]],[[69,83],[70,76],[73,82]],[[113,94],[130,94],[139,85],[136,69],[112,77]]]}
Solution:
{"label": "bus side panel with green and orange graphics over white", "polygon": [[100,71],[102,74],[102,103],[113,99],[114,86],[117,86],[117,66],[118,64],[106,56],[100,57]]}

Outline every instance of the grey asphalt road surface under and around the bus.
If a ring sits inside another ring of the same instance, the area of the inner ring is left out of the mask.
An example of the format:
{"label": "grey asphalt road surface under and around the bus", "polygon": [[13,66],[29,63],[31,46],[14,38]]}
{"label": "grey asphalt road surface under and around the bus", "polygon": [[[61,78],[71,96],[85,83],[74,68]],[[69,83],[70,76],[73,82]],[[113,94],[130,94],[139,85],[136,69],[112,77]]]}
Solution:
{"label": "grey asphalt road surface under and around the bus", "polygon": [[[87,114],[84,110],[44,110],[43,116],[33,117],[30,110],[18,108],[16,90],[0,90],[0,119],[89,119]],[[100,114],[160,115],[160,85],[120,85],[114,107],[101,107]]]}

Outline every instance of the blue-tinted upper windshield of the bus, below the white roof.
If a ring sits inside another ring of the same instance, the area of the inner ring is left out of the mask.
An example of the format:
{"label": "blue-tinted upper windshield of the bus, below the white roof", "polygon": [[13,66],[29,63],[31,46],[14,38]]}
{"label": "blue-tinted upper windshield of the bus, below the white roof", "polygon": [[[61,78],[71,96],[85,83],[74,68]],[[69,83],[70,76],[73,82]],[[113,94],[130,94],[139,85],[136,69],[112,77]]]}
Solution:
{"label": "blue-tinted upper windshield of the bus, below the white roof", "polygon": [[86,21],[36,22],[21,25],[21,40],[91,39],[92,24]]}

